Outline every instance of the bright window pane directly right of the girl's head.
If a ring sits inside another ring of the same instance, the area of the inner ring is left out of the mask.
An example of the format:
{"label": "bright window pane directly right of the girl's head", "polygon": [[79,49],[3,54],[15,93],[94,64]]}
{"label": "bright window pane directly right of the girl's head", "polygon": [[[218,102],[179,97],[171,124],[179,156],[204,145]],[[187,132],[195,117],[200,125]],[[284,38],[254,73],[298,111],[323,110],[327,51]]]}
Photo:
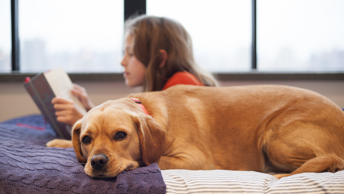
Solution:
{"label": "bright window pane directly right of the girl's head", "polygon": [[251,68],[251,0],[147,0],[147,14],[179,21],[196,62],[212,72]]}

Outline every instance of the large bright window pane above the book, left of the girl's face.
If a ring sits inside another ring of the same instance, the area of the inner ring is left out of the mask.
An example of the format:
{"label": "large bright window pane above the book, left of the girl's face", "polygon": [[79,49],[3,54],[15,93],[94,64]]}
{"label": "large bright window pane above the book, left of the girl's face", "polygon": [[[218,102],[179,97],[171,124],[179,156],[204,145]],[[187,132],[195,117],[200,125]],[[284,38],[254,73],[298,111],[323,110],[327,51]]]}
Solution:
{"label": "large bright window pane above the book, left of the girl's face", "polygon": [[19,1],[20,70],[120,72],[123,1]]}

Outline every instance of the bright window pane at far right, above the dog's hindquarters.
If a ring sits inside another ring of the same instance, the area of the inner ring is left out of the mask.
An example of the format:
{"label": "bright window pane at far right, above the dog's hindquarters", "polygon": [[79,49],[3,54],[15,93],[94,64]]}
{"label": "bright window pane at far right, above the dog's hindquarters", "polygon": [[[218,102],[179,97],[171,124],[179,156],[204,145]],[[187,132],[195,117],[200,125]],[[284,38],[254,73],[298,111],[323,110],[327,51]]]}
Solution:
{"label": "bright window pane at far right, above the dog's hindquarters", "polygon": [[343,0],[257,0],[263,71],[344,70]]}

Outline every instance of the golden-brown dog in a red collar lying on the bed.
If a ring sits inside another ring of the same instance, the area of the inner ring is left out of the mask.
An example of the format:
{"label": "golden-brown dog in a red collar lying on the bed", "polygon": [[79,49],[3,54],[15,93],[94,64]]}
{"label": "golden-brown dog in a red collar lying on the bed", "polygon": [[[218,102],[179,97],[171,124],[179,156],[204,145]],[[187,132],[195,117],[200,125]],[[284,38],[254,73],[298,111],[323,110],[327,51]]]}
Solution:
{"label": "golden-brown dog in a red collar lying on the bed", "polygon": [[344,169],[344,111],[319,93],[176,85],[129,97],[140,102],[104,102],[74,124],[72,141],[47,145],[73,145],[86,174],[103,178],[152,163],[161,170],[281,172],[277,178]]}

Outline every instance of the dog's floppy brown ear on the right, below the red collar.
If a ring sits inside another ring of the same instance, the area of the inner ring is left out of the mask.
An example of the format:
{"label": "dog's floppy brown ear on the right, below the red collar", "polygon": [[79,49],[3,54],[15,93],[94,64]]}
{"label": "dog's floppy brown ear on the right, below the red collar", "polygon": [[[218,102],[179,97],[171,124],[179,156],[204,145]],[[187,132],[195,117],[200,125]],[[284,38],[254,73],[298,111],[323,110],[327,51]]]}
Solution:
{"label": "dog's floppy brown ear on the right, below the red collar", "polygon": [[166,131],[151,116],[140,115],[133,120],[139,132],[142,161],[147,165],[157,162],[162,156]]}

